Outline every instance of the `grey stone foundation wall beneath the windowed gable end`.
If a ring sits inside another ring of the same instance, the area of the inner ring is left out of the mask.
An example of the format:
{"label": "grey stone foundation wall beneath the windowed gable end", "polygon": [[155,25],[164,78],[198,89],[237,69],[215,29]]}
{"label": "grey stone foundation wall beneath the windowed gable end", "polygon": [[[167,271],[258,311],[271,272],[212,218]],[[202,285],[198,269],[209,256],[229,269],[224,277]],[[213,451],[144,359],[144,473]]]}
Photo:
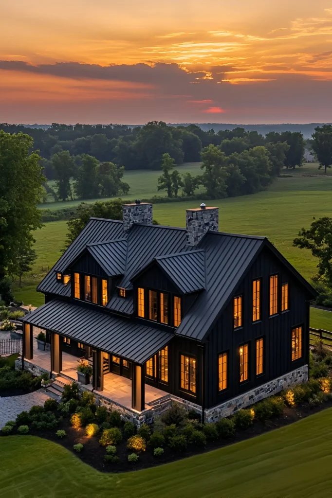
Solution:
{"label": "grey stone foundation wall beneath the windowed gable end", "polygon": [[216,422],[220,418],[229,417],[241,408],[246,408],[258,401],[261,401],[268,396],[277,394],[278,392],[288,389],[291,385],[302,384],[308,381],[309,368],[308,365],[300,369],[293,370],[293,372],[286,373],[285,375],[275,378],[266,384],[247,391],[240,396],[229,399],[220,405],[207,408],[204,412],[205,422]]}

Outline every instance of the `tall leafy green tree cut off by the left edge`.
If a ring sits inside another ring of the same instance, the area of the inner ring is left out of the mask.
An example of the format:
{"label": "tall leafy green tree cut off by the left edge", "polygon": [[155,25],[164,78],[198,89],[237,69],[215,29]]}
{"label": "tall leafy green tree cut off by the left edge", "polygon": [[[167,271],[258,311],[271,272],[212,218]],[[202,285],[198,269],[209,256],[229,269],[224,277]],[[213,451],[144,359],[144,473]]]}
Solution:
{"label": "tall leafy green tree cut off by the left edge", "polygon": [[32,146],[29,135],[0,131],[0,280],[8,271],[18,274],[18,256],[41,228],[37,204],[45,177]]}

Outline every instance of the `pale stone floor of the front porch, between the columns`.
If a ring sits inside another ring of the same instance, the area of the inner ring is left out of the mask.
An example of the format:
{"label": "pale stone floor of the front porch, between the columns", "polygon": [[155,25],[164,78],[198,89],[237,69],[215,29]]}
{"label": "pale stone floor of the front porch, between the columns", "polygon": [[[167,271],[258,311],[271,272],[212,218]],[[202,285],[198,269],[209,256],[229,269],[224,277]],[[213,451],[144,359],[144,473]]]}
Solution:
{"label": "pale stone floor of the front porch, between the columns", "polygon": [[[33,360],[31,363],[50,371],[51,355],[49,351],[39,351],[37,341],[33,341]],[[77,366],[79,359],[68,353],[62,353],[62,371],[67,377],[77,381]],[[92,390],[92,384],[86,386]],[[115,401],[116,403],[131,408],[132,406],[132,381],[127,377],[116,375],[115,373],[104,374],[104,390],[98,391],[103,397]],[[157,389],[151,385],[145,384],[145,404],[149,408],[149,403],[159,399],[167,394],[166,391]]]}

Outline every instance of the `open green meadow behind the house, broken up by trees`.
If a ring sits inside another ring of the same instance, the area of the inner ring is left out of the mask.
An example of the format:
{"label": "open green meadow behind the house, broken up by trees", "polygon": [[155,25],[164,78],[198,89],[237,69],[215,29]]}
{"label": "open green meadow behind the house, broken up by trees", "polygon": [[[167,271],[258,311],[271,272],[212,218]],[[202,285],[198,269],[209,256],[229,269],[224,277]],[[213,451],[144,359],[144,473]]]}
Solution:
{"label": "open green meadow behind the house, broken up by trees", "polygon": [[[315,169],[314,166],[306,164],[301,171],[304,168],[317,171],[317,165]],[[197,174],[199,163],[190,164],[190,168],[193,173],[195,169]],[[300,172],[300,169],[296,171]],[[150,194],[148,192],[152,189],[153,181],[157,182],[159,174],[157,171],[128,172],[127,175],[135,185],[135,195],[131,198],[157,194],[156,183],[155,190]],[[140,191],[144,192],[143,195],[140,195]],[[154,219],[163,225],[184,227],[185,209],[196,207],[202,201],[203,197],[197,201],[155,204]],[[47,207],[61,207],[60,204],[69,206],[71,203],[52,203]],[[314,217],[332,216],[332,176],[301,176],[297,173],[292,177],[278,178],[267,191],[216,200],[212,204],[219,207],[221,232],[266,236],[306,278],[311,278],[316,273],[315,258],[310,251],[293,247],[293,240],[302,227],[310,226]],[[14,287],[16,298],[23,300],[25,304],[39,306],[43,303],[43,295],[36,292],[35,287],[59,258],[66,230],[66,221],[57,221],[46,223],[41,230],[35,232],[37,260],[33,271],[24,277],[21,289],[17,288],[17,284]],[[315,310],[314,314],[312,326],[332,330],[332,313]]]}

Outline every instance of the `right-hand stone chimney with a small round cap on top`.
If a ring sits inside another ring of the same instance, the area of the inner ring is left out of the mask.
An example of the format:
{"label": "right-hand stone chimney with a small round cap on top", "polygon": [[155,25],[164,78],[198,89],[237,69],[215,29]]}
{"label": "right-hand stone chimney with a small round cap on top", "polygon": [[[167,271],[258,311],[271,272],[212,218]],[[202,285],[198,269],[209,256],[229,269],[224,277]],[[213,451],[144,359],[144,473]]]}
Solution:
{"label": "right-hand stone chimney with a small round cap on top", "polygon": [[203,235],[219,231],[219,209],[206,207],[205,204],[196,209],[185,210],[185,225],[187,229],[187,245],[197,246]]}

